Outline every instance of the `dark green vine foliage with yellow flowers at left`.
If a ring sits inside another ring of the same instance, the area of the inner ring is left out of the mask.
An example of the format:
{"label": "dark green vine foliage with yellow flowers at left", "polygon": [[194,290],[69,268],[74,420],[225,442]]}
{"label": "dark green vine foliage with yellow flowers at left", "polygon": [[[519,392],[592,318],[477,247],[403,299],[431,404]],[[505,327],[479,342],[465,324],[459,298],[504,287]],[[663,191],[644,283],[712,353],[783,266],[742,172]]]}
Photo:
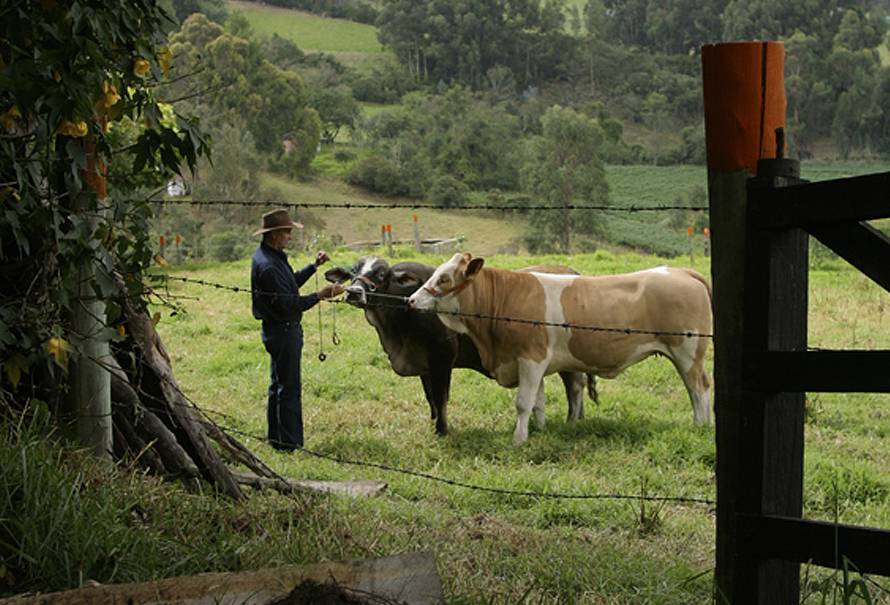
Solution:
{"label": "dark green vine foliage with yellow flowers at left", "polygon": [[[209,152],[196,121],[158,98],[175,60],[169,24],[153,0],[0,4],[4,406],[57,398],[78,337],[122,336],[119,301],[143,299],[139,276],[152,258],[151,208],[131,200]],[[97,195],[109,167],[107,197]],[[106,328],[76,335],[77,268],[90,259]]]}

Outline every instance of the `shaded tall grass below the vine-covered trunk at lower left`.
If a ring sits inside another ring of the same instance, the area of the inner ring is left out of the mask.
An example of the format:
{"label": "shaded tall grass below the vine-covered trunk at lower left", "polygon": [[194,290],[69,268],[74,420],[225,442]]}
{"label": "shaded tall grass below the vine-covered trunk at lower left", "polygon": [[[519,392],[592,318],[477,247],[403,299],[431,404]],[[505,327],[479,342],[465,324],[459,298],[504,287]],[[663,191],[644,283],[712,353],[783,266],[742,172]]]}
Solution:
{"label": "shaded tall grass below the vine-covered trunk at lower left", "polygon": [[39,407],[0,425],[0,596],[359,556],[327,498],[234,503],[96,460],[51,426]]}

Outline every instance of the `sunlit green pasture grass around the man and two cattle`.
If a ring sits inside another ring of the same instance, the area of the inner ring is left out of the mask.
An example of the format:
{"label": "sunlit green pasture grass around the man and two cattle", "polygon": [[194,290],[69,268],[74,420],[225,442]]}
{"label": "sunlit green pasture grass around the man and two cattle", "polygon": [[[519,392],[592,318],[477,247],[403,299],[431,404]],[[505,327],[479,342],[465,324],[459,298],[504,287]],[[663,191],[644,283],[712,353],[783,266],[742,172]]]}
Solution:
{"label": "sunlit green pasture grass around the man and two cattle", "polygon": [[[468,248],[473,251],[472,247]],[[397,260],[438,264],[399,248]],[[306,260],[293,253],[294,262]],[[356,253],[336,250],[347,264]],[[492,266],[565,263],[582,273],[633,271],[664,259],[599,251],[570,258],[488,257]],[[666,264],[685,265],[688,259]],[[696,268],[706,275],[706,259]],[[244,286],[249,264],[172,269]],[[708,603],[714,510],[610,499],[549,499],[492,494],[267,447],[268,360],[250,300],[243,293],[171,283],[183,309],[161,312],[158,330],[184,391],[288,477],[375,478],[389,482],[373,499],[318,501],[318,520],[292,536],[281,562],[303,557],[369,557],[405,550],[435,552],[450,603]],[[304,291],[315,288],[310,282]],[[890,295],[839,261],[811,272],[811,346],[890,347]],[[336,318],[333,313],[336,311]],[[511,445],[512,390],[468,370],[455,371],[449,424],[437,438],[417,378],[389,367],[363,314],[321,305],[304,316],[303,384],[306,447],[354,461],[428,473],[465,483],[546,494],[625,494],[714,498],[714,430],[696,428],[685,390],[670,364],[650,358],[599,383],[601,404],[586,402],[586,418],[567,423],[561,384],[547,380],[547,426]],[[334,346],[331,330],[342,343]],[[327,360],[318,360],[319,350]],[[812,395],[807,401],[805,514],[890,527],[890,398]],[[247,435],[247,436],[245,436]],[[260,437],[260,438],[255,438]],[[312,505],[310,505],[312,506]],[[249,551],[261,546],[258,544]],[[855,563],[855,562],[854,562]],[[830,594],[828,574],[810,570],[805,602]],[[869,584],[878,602],[887,593]],[[829,591],[826,593],[826,591]],[[881,601],[881,599],[884,599]],[[831,602],[831,601],[829,601]]]}

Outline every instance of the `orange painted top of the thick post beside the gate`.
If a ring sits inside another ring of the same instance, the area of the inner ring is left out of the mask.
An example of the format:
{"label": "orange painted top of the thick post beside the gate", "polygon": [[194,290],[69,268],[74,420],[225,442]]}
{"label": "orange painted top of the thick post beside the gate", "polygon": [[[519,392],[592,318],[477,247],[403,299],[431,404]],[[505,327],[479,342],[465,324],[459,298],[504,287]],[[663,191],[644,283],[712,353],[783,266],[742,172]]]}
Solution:
{"label": "orange painted top of the thick post beside the gate", "polygon": [[728,42],[702,47],[708,169],[757,173],[776,157],[776,128],[785,126],[785,46]]}

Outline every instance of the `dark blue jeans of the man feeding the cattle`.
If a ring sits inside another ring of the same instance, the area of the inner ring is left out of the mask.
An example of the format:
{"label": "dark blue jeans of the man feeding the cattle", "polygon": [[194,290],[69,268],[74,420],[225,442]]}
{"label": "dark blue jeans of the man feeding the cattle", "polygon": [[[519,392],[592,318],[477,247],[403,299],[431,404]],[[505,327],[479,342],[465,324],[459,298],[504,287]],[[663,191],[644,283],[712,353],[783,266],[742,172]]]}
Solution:
{"label": "dark blue jeans of the man feeding the cattle", "polygon": [[297,321],[263,322],[263,345],[271,357],[269,401],[266,415],[272,447],[293,450],[303,447],[303,402],[300,356],[303,328]]}

